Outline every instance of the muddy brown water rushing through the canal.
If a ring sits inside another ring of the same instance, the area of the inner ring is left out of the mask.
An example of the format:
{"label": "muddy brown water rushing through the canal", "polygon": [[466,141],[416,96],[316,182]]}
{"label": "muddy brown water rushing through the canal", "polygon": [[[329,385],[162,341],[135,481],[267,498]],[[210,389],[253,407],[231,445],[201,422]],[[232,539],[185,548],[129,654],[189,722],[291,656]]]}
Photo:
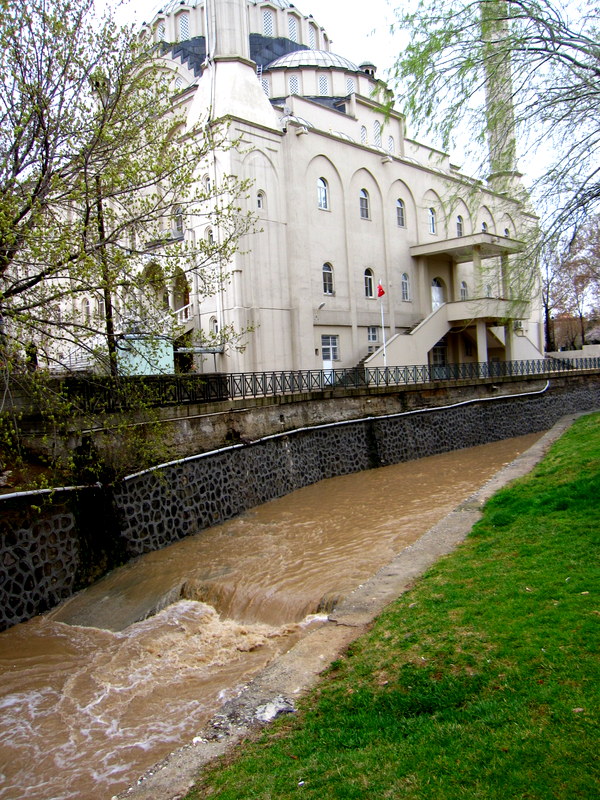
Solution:
{"label": "muddy brown water rushing through the canal", "polygon": [[322,481],[0,634],[0,799],[127,788],[537,438]]}

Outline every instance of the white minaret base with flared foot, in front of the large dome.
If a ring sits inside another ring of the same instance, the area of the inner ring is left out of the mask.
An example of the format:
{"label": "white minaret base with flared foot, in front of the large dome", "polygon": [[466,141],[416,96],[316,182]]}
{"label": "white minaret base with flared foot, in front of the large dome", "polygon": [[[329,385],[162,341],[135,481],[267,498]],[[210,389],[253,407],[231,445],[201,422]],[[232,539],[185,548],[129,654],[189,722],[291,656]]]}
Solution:
{"label": "white minaret base with flared foot, in front of the large dome", "polygon": [[248,0],[206,0],[206,64],[188,121],[238,117],[280,130],[250,61]]}

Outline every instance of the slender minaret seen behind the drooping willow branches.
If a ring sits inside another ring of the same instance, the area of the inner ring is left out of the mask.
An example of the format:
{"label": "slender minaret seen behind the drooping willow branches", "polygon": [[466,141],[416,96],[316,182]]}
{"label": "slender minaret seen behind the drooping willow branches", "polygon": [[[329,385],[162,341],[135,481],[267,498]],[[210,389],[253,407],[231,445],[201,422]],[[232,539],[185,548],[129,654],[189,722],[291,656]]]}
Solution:
{"label": "slender minaret seen behind the drooping willow branches", "polygon": [[479,7],[490,164],[488,183],[497,192],[514,191],[521,175],[517,170],[508,3],[506,0],[482,0]]}

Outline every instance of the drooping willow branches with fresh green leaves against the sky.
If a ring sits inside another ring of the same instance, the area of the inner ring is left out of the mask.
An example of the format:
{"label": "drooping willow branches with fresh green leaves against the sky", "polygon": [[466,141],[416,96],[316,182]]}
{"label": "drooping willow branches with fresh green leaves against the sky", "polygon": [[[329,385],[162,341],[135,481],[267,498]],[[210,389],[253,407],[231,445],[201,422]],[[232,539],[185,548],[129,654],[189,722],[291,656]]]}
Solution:
{"label": "drooping willow branches with fresh green leaves against the sky", "polygon": [[548,229],[574,229],[598,208],[597,4],[421,0],[396,15],[409,44],[395,79],[417,124],[446,148],[466,126],[500,190],[514,191],[517,156],[532,168],[541,159],[535,190]]}

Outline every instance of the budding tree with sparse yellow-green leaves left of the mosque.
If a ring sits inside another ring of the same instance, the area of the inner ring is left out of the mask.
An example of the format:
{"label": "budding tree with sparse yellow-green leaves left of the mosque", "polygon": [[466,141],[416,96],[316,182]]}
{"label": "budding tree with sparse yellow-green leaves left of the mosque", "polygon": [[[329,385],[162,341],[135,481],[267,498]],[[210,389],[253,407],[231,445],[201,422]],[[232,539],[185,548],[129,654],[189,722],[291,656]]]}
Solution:
{"label": "budding tree with sparse yellow-green leaves left of the mosque", "polygon": [[[127,330],[176,335],[168,293],[209,295],[252,219],[200,170],[235,146],[190,129],[159,53],[93,0],[0,11],[0,356],[5,372],[87,350],[117,371]],[[184,236],[210,221],[217,235]]]}

